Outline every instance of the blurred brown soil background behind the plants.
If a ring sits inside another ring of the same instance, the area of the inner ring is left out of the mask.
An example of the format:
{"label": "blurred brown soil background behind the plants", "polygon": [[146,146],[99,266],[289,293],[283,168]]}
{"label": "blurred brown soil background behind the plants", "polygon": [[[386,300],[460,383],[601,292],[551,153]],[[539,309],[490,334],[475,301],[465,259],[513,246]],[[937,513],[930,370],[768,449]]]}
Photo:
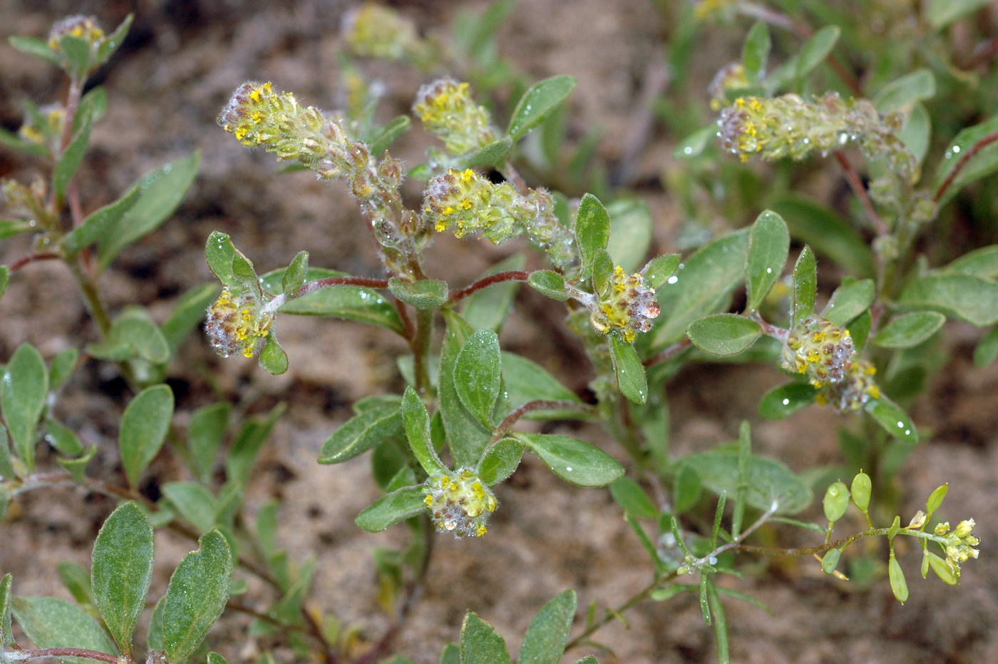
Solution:
{"label": "blurred brown soil background behind the plants", "polygon": [[[257,267],[285,266],[306,249],[313,266],[355,275],[379,276],[374,248],[353,201],[340,183],[318,183],[308,174],[276,175],[273,160],[237,144],[215,124],[218,110],[241,82],[271,80],[306,104],[333,109],[341,104],[336,55],[338,28],[350,3],[318,0],[268,3],[216,0],[36,2],[4,0],[0,26],[12,34],[45,36],[52,22],[74,13],[92,13],[112,28],[128,12],[136,22],[111,65],[101,71],[110,107],[93,132],[92,150],[81,169],[84,209],[113,200],[139,175],[200,149],[203,168],[187,200],[172,220],[124,252],[103,279],[112,312],[130,303],[151,308],[163,320],[176,297],[212,281],[204,261],[205,239],[213,230],[233,236]],[[455,10],[482,2],[403,2],[401,10],[423,30],[451,21]],[[651,58],[660,57],[661,18],[648,2],[605,0],[524,0],[501,32],[500,48],[517,68],[535,78],[572,74],[579,85],[571,98],[571,127],[581,135],[593,124],[604,128],[600,152],[615,159],[639,104],[642,77]],[[704,87],[713,72],[737,57],[743,32],[729,41],[700,45],[698,71]],[[0,123],[16,130],[21,100],[55,101],[64,82],[53,68],[0,43]],[[406,112],[425,78],[404,66],[364,65],[388,91],[379,116]],[[704,93],[706,95],[706,92]],[[678,213],[657,176],[671,162],[678,137],[653,132],[636,165],[640,195],[656,216],[660,253],[673,251]],[[418,163],[429,141],[414,130],[392,148],[409,164]],[[27,181],[36,172],[28,160],[0,152],[0,176]],[[417,190],[408,191],[410,200]],[[754,215],[754,211],[749,211]],[[495,261],[519,247],[438,241],[429,270],[452,285],[467,284]],[[0,262],[30,251],[25,238],[5,241]],[[825,294],[827,295],[827,294]],[[573,388],[591,377],[581,348],[552,333],[561,322],[547,313],[540,296],[521,292],[503,332],[504,347],[545,364]],[[248,490],[250,513],[270,496],[284,499],[279,535],[292,559],[317,559],[311,604],[356,625],[376,640],[389,625],[374,595],[371,564],[375,547],[399,546],[404,528],[371,535],[353,525],[356,513],[376,491],[366,456],[336,466],[315,457],[323,440],[349,415],[349,403],[371,392],[398,391],[395,357],[404,345],[389,332],[331,320],[284,317],[281,340],[290,370],[269,376],[254,362],[215,356],[200,333],[193,334],[172,367],[178,423],[195,407],[221,396],[238,399],[248,412],[277,401],[288,405],[264,449]],[[948,363],[913,408],[919,427],[931,431],[907,461],[899,481],[907,519],[938,484],[950,483],[946,517],[977,519],[981,559],[964,568],[961,587],[944,587],[917,577],[919,557],[905,550],[911,598],[901,606],[885,579],[868,588],[826,577],[813,559],[749,562],[743,579],[724,584],[749,592],[774,614],[726,600],[733,660],[738,662],[998,662],[998,564],[995,562],[995,507],[998,496],[998,366],[977,369],[970,351],[979,332],[952,326]],[[0,357],[22,341],[46,357],[95,338],[73,282],[56,263],[38,263],[18,273],[0,303]],[[567,345],[566,345],[567,344]],[[795,470],[840,462],[835,427],[827,409],[811,406],[787,420],[758,421],[758,395],[780,381],[773,367],[703,364],[685,369],[671,383],[673,435],[678,453],[709,449],[736,436],[743,418],[753,423],[757,451],[774,455]],[[115,367],[90,361],[63,389],[57,414],[100,452],[91,472],[111,481],[122,473],[117,457],[117,417],[130,398]],[[562,425],[559,429],[571,432]],[[577,435],[604,444],[595,427]],[[54,465],[41,452],[40,465]],[[161,454],[143,490],[157,497],[166,481],[186,479],[169,453]],[[419,664],[436,662],[441,646],[459,638],[466,610],[490,621],[515,653],[530,619],[556,593],[575,588],[580,615],[590,602],[616,606],[651,578],[647,556],[604,490],[581,489],[556,480],[536,458],[527,458],[513,480],[499,487],[501,508],[490,534],[476,541],[438,537],[425,591],[397,642],[397,652]],[[88,564],[90,547],[109,499],[72,488],[48,495],[27,494],[0,529],[0,572],[13,572],[20,595],[69,598],[56,575],[62,560]],[[819,508],[805,516],[818,518]],[[851,526],[860,527],[858,523]],[[840,525],[842,532],[851,531]],[[806,536],[775,528],[767,536],[785,545]],[[810,541],[810,543],[813,543]],[[153,592],[166,587],[187,541],[158,534]],[[849,555],[861,553],[853,547]],[[876,551],[876,559],[886,558]],[[748,560],[748,558],[747,558]],[[254,594],[255,593],[255,594]],[[264,607],[264,590],[250,586],[243,599]],[[147,614],[148,619],[148,614]],[[645,602],[596,639],[612,649],[578,648],[574,661],[597,654],[603,662],[715,661],[711,628],[700,617],[694,593],[665,604]],[[229,661],[250,661],[256,644],[247,636],[249,619],[227,617],[213,632],[214,648]],[[576,631],[578,630],[578,627]],[[140,639],[140,642],[141,639]],[[286,661],[293,657],[281,651]]]}

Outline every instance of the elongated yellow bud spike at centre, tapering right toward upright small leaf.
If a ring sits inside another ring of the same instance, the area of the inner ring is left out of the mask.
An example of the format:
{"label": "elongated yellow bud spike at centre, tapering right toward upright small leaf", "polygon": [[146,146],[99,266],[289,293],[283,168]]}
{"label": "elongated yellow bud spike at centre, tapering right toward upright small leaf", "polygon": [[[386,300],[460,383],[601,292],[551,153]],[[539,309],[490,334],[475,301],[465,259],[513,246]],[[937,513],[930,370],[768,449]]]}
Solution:
{"label": "elongated yellow bud spike at centre, tapering right toward upright small leaf", "polygon": [[424,223],[458,238],[481,232],[493,244],[526,234],[559,268],[575,260],[572,235],[554,214],[544,190],[521,195],[509,183],[495,184],[472,169],[450,169],[436,176],[423,193]]}

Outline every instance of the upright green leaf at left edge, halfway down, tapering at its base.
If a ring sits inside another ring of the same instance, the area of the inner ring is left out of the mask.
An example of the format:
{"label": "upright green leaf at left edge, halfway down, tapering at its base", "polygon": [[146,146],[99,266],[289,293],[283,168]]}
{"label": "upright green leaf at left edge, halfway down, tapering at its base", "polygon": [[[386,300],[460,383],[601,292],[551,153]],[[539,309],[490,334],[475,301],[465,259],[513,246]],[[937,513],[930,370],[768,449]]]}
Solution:
{"label": "upright green leaf at left edge, halfway down, tapering at its base", "polygon": [[14,439],[14,449],[28,472],[35,468],[38,418],[49,393],[49,372],[42,355],[30,343],[17,346],[3,372],[0,407]]}

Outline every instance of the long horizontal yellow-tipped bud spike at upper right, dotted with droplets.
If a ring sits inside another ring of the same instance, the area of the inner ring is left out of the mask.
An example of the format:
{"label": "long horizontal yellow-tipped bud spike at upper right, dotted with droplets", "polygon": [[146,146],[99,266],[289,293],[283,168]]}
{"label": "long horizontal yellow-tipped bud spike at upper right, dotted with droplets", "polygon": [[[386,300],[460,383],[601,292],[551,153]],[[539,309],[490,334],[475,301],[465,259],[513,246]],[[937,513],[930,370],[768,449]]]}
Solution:
{"label": "long horizontal yellow-tipped bud spike at upper right, dotted with droplets", "polygon": [[718,138],[742,161],[751,155],[803,159],[815,150],[827,154],[857,142],[868,159],[883,157],[891,170],[910,181],[918,164],[897,136],[901,125],[900,114],[881,116],[870,101],[846,102],[834,92],[810,102],[794,94],[740,97],[722,110]]}

